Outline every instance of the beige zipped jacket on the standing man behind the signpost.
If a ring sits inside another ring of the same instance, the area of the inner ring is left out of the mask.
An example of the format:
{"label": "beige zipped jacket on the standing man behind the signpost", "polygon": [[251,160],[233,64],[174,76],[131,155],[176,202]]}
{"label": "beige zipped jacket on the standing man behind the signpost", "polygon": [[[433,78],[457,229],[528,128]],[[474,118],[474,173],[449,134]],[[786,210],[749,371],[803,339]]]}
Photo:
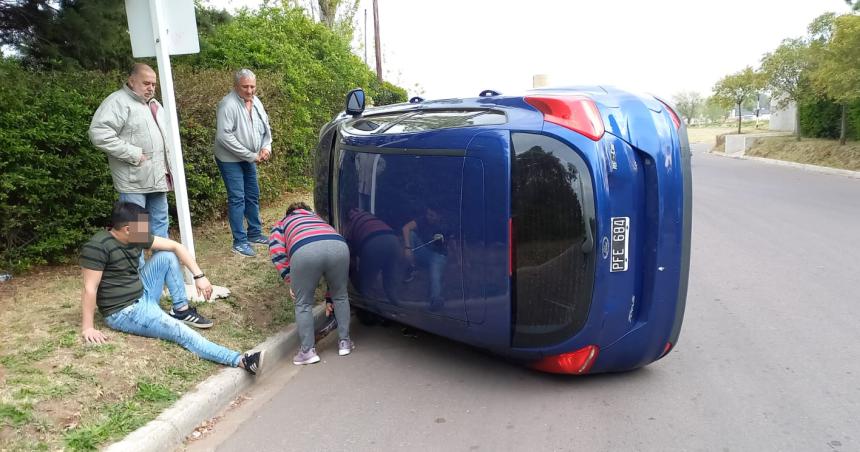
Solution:
{"label": "beige zipped jacket on the standing man behind the signpost", "polygon": [[[158,106],[152,116],[151,103]],[[93,145],[108,155],[111,177],[120,193],[166,192],[172,164],[167,142],[167,115],[155,99],[145,102],[128,86],[108,96],[93,115]],[[141,156],[147,159],[141,162]]]}

